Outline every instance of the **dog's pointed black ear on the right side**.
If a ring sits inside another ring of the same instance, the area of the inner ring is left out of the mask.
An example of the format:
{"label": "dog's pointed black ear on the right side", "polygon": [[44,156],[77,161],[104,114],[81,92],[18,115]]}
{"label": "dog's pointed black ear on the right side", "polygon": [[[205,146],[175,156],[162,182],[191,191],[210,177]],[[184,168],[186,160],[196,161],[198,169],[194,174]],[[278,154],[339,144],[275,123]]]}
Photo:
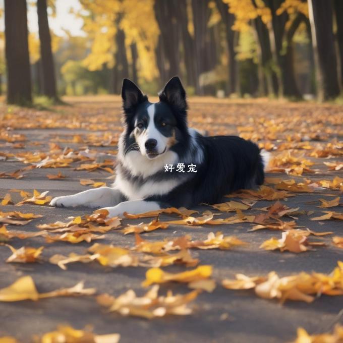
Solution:
{"label": "dog's pointed black ear on the right side", "polygon": [[178,76],[172,77],[158,96],[160,101],[167,102],[179,111],[187,110],[186,91]]}

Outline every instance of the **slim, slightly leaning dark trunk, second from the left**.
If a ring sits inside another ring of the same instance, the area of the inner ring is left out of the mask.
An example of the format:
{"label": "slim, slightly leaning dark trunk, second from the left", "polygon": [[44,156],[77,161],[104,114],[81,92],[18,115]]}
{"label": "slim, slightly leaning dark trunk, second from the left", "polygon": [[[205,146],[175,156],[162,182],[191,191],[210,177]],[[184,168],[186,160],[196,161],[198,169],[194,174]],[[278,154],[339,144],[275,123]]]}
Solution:
{"label": "slim, slightly leaning dark trunk, second from the left", "polygon": [[37,0],[38,31],[40,40],[40,56],[42,61],[43,94],[57,99],[56,78],[51,51],[51,37],[47,18],[46,0]]}

